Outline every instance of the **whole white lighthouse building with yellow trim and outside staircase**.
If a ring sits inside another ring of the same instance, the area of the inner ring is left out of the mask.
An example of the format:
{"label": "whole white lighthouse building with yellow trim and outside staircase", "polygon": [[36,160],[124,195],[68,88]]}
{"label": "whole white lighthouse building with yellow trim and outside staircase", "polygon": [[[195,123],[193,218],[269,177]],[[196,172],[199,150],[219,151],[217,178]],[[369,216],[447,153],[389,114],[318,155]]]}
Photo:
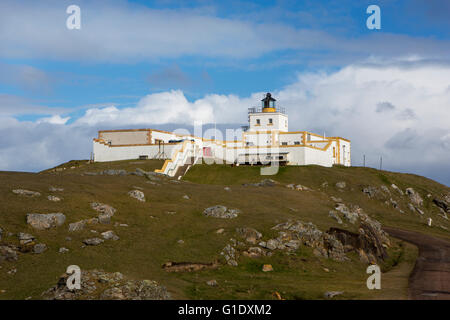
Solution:
{"label": "whole white lighthouse building with yellow trim and outside staircase", "polygon": [[187,163],[351,165],[350,141],[307,131],[288,131],[288,116],[270,93],[249,108],[240,140],[204,139],[155,129],[104,130],[94,139],[94,161],[166,159],[161,173],[174,176]]}

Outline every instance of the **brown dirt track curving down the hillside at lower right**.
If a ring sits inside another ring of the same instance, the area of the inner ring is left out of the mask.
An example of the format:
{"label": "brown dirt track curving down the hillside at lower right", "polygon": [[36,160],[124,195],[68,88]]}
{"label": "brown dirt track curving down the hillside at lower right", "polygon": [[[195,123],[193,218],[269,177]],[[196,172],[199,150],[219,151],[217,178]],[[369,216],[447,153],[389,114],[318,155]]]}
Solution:
{"label": "brown dirt track curving down the hillside at lower right", "polygon": [[450,300],[450,241],[417,232],[385,227],[391,236],[419,248],[409,279],[409,298]]}

